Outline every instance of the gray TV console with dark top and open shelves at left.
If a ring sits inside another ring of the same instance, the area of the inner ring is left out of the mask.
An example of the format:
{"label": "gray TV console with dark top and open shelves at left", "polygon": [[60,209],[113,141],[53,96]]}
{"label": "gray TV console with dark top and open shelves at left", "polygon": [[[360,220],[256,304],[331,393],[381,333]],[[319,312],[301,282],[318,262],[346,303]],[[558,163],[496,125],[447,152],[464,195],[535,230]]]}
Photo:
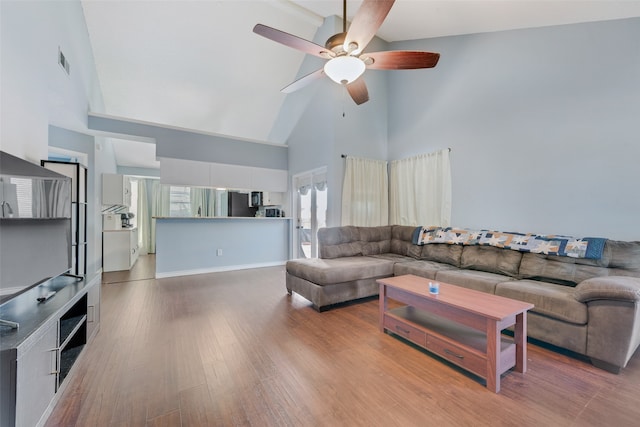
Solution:
{"label": "gray TV console with dark top and open shelves at left", "polygon": [[0,425],[43,425],[100,325],[101,275],[59,276],[0,306]]}

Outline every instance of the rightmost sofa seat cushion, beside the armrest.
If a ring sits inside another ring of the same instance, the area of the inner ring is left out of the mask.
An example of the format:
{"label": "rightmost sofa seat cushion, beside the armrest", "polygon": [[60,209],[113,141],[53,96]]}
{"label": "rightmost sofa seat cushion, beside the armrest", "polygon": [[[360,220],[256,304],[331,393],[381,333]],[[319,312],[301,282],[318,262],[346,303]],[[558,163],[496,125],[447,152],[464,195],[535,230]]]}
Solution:
{"label": "rightmost sofa seat cushion, beside the armrest", "polygon": [[588,320],[587,305],[576,300],[575,289],[537,280],[513,280],[496,286],[496,295],[533,304],[532,311],[577,325]]}

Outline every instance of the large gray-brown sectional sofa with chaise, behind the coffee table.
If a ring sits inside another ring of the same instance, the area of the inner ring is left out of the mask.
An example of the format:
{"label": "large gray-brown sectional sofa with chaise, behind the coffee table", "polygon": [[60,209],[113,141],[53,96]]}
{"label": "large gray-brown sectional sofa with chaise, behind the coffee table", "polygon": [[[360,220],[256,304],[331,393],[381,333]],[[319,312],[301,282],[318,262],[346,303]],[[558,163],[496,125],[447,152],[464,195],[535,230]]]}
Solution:
{"label": "large gray-brown sectional sofa with chaise, behind the coffee table", "polygon": [[319,258],[287,262],[287,291],[323,311],[377,295],[377,279],[414,274],[532,303],[529,337],[610,372],[625,367],[640,344],[640,242],[607,240],[600,259],[583,259],[493,246],[419,246],[415,231],[320,229]]}

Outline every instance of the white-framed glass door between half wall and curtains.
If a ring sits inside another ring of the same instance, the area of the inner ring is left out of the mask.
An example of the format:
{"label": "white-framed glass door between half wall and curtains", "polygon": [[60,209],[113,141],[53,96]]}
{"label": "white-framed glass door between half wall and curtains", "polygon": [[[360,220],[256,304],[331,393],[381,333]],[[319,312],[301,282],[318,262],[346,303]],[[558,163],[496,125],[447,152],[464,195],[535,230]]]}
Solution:
{"label": "white-framed glass door between half wall and curtains", "polygon": [[318,229],[327,226],[327,168],[293,176],[294,258],[318,257]]}

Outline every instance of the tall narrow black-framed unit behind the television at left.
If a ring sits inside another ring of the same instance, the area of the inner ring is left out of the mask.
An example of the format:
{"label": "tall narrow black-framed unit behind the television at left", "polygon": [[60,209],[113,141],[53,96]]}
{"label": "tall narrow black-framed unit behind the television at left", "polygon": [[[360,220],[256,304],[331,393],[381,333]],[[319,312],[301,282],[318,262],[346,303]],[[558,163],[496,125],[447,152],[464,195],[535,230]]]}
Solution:
{"label": "tall narrow black-framed unit behind the television at left", "polygon": [[80,163],[42,160],[49,170],[71,178],[71,271],[87,274],[87,168]]}

